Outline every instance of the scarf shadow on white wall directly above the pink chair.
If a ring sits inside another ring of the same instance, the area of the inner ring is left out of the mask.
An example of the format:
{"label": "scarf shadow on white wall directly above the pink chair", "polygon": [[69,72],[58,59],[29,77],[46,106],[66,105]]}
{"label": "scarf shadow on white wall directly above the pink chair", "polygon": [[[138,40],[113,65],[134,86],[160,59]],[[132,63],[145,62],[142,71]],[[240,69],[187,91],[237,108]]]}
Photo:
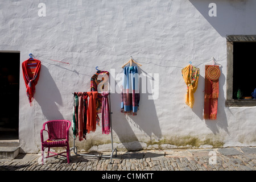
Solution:
{"label": "scarf shadow on white wall directly above the pink chair", "polygon": [[64,119],[57,105],[62,104],[61,94],[48,69],[41,65],[40,77],[36,85],[35,100],[41,106],[47,120]]}

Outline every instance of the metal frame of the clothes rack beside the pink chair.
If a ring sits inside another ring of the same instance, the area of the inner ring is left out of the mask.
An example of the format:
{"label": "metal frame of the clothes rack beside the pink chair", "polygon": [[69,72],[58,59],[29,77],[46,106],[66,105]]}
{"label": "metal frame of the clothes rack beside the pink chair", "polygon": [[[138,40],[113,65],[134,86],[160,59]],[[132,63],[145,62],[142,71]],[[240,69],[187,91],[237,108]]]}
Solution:
{"label": "metal frame of the clothes rack beside the pink chair", "polygon": [[[98,93],[101,93],[101,92],[98,92]],[[74,93],[72,93],[74,94]],[[96,155],[92,155],[92,154],[77,154],[77,147],[76,147],[76,143],[75,143],[75,140],[76,138],[74,138],[74,146],[71,148],[70,151],[74,151],[74,153],[76,155],[80,155],[80,156],[95,156],[95,157],[98,157],[98,158],[110,158],[110,164],[112,164],[112,157],[113,157],[113,154],[114,154],[114,151],[115,151],[115,156],[117,156],[117,148],[114,148],[113,146],[113,132],[112,132],[112,117],[111,117],[111,114],[112,114],[112,111],[111,111],[111,102],[110,102],[110,92],[109,92],[109,110],[110,110],[110,134],[111,134],[111,144],[112,144],[112,153],[111,155],[101,155],[101,154],[96,154]]]}

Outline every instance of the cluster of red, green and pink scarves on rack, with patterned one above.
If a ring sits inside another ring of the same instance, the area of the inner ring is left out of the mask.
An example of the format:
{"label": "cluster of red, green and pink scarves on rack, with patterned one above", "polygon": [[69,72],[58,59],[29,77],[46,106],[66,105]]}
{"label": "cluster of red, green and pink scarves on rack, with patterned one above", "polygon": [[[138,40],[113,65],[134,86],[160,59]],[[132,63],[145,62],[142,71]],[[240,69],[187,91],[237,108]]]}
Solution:
{"label": "cluster of red, green and pink scarves on rack, with patterned one above", "polygon": [[[102,79],[98,76],[102,74]],[[102,134],[110,133],[109,92],[102,92],[104,82],[108,81],[109,72],[98,71],[91,78],[91,92],[74,93],[73,105],[73,135],[79,136],[79,140],[86,139],[86,134],[96,131],[96,125],[100,125],[98,113],[102,113]],[[101,94],[97,90],[101,91]],[[89,98],[89,102],[88,102]]]}

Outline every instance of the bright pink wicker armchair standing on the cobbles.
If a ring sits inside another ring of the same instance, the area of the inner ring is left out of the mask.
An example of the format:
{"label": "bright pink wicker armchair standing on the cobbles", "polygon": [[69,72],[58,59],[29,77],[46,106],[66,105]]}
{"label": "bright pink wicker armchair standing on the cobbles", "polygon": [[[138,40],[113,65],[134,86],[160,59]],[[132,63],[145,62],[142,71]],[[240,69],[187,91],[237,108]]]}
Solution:
{"label": "bright pink wicker armchair standing on the cobbles", "polygon": [[[47,129],[46,130],[46,125]],[[68,163],[69,163],[69,144],[68,144],[68,138],[69,138],[69,127],[71,126],[71,122],[68,120],[52,120],[47,121],[43,124],[43,129],[41,130],[41,142],[42,142],[42,164],[44,163],[44,149],[48,148],[48,155],[46,158],[52,157],[52,156],[64,156],[67,157]],[[43,137],[43,131],[48,132],[48,139],[44,140]],[[67,155],[63,155],[65,152],[61,153],[55,153],[51,152],[51,147],[64,147],[66,148]],[[54,154],[50,155],[49,153]]]}

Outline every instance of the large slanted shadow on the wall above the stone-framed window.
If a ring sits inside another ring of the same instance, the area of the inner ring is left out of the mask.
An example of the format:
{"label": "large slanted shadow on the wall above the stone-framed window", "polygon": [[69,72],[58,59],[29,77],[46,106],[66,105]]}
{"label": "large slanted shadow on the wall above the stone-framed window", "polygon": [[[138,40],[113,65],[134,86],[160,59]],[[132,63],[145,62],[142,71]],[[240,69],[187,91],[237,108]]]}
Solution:
{"label": "large slanted shadow on the wall above the stone-framed window", "polygon": [[[243,32],[250,34],[250,32],[246,32],[245,27],[255,22],[256,11],[253,9],[255,7],[255,1],[189,0],[189,2],[196,7],[201,15],[204,16],[222,37],[228,34],[243,34]],[[209,11],[212,13],[211,10],[213,7],[209,7],[210,3],[216,4],[216,16],[209,16]]]}

